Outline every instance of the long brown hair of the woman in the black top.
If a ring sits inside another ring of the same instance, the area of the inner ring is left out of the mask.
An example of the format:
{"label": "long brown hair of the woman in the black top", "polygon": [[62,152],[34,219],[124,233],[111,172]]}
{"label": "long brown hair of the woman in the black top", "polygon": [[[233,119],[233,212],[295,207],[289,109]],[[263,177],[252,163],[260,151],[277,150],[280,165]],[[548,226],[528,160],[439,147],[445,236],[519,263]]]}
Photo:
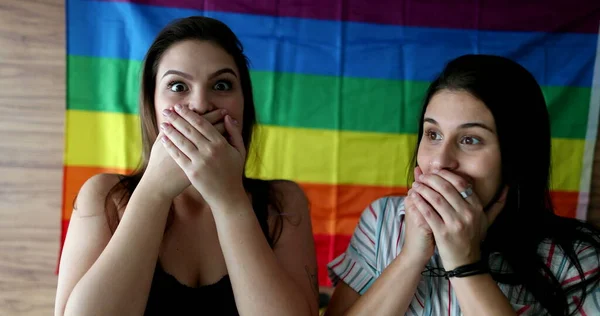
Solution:
{"label": "long brown hair of the woman in the black top", "polygon": [[[137,187],[142,175],[144,174],[150,152],[156,137],[158,136],[158,127],[156,122],[154,92],[156,89],[156,75],[158,65],[165,51],[173,44],[184,40],[210,41],[225,50],[233,58],[240,74],[242,94],[244,96],[244,113],[242,138],[246,150],[249,150],[252,141],[252,134],[256,126],[256,109],[252,95],[252,83],[250,80],[250,71],[248,69],[248,59],[244,54],[244,49],[231,29],[224,23],[203,16],[192,16],[172,21],[165,26],[155,38],[148,49],[142,64],[141,91],[140,91],[140,122],[142,135],[142,157],[138,167],[129,175],[121,175],[120,181],[108,193],[106,197],[106,217],[109,227],[114,233],[119,224],[118,210],[124,209],[129,197]],[[253,157],[256,159],[256,157]],[[267,217],[269,210],[281,213],[280,198],[273,190],[268,181],[250,179],[243,176],[244,188],[252,196],[252,206],[259,220],[265,237],[271,247],[274,246],[276,239],[281,234],[281,217],[274,216],[274,227],[269,230]],[[118,195],[117,198],[115,198]],[[110,203],[117,202],[117,208],[111,208]],[[173,206],[171,206],[171,211]],[[167,228],[169,224],[167,224]]]}

